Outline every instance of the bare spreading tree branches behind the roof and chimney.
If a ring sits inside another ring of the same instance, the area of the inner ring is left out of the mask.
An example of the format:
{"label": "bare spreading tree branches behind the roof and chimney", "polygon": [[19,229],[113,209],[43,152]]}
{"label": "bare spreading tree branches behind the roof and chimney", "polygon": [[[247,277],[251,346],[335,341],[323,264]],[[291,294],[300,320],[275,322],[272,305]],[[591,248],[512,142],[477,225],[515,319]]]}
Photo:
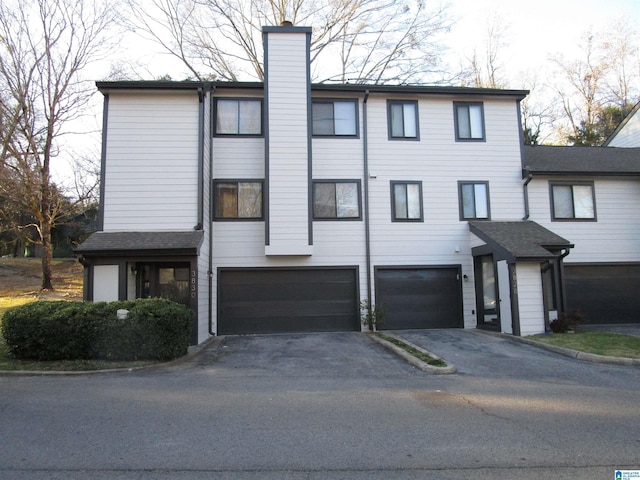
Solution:
{"label": "bare spreading tree branches behind the roof and chimney", "polygon": [[[314,81],[407,83],[439,64],[444,6],[393,0],[128,0],[128,25],[196,79],[264,79],[262,27],[313,27]],[[151,4],[152,6],[150,7]]]}

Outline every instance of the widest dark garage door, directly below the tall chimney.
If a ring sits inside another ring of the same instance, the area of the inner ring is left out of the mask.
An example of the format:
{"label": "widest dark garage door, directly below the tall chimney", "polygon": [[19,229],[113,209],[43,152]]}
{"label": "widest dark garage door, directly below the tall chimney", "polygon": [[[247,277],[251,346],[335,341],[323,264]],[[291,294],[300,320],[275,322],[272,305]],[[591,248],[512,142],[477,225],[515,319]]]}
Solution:
{"label": "widest dark garage door, directly below the tall chimney", "polygon": [[218,333],[359,330],[356,268],[220,269]]}

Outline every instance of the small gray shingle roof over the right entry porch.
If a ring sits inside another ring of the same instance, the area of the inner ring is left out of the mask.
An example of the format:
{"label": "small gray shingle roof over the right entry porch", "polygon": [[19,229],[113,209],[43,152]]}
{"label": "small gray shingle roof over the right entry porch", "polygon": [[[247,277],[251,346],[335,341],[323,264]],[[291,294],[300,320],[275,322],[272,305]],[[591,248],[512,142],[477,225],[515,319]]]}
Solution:
{"label": "small gray shingle roof over the right entry porch", "polygon": [[475,221],[469,222],[469,230],[510,260],[551,259],[558,256],[558,250],[573,247],[568,240],[531,220]]}

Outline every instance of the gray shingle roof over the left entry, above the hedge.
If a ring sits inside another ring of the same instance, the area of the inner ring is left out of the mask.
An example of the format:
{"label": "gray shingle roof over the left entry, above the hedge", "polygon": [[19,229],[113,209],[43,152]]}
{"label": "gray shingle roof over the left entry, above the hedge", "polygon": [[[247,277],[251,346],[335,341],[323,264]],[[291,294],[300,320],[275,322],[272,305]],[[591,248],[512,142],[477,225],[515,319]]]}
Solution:
{"label": "gray shingle roof over the left entry, above the hedge", "polygon": [[196,255],[204,232],[96,232],[75,252],[82,255]]}

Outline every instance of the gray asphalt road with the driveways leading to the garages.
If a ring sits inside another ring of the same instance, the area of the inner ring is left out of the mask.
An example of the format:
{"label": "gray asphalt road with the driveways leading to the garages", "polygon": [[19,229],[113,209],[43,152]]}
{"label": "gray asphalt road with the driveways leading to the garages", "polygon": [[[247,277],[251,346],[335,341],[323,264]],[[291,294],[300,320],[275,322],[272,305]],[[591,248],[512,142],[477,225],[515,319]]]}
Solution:
{"label": "gray asphalt road with the driveways leading to the garages", "polygon": [[0,377],[0,478],[607,479],[640,469],[640,368],[473,331],[234,336],[153,371]]}

